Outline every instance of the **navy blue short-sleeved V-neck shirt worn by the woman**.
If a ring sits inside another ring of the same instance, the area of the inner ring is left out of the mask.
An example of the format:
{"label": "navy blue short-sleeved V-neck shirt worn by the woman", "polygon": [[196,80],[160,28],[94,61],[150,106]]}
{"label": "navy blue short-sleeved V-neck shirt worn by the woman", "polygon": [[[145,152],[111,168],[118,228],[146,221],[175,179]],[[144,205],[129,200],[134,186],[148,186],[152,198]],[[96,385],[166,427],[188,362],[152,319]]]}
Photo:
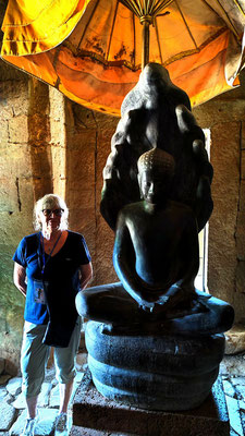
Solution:
{"label": "navy blue short-sleeved V-neck shirt worn by the woman", "polygon": [[[29,323],[47,324],[51,315],[53,322],[74,323],[77,317],[75,295],[79,290],[79,266],[90,262],[85,239],[79,233],[69,231],[63,246],[54,256],[45,253],[44,274],[42,255],[39,232],[23,238],[13,256],[13,261],[26,269],[24,318]],[[45,301],[37,298],[38,287],[41,290],[44,282]]]}

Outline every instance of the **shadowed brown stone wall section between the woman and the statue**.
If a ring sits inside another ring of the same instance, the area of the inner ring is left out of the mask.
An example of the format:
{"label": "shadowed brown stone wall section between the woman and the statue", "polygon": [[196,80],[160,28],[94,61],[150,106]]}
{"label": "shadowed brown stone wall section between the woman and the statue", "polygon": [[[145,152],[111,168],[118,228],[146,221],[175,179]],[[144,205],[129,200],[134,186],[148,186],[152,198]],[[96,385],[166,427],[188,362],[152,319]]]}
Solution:
{"label": "shadowed brown stone wall section between the woman and the statue", "polygon": [[86,237],[94,265],[94,284],[117,280],[111,257],[113,232],[102,219],[99,205],[102,169],[118,119],[93,112],[65,99],[66,201],[70,227]]}

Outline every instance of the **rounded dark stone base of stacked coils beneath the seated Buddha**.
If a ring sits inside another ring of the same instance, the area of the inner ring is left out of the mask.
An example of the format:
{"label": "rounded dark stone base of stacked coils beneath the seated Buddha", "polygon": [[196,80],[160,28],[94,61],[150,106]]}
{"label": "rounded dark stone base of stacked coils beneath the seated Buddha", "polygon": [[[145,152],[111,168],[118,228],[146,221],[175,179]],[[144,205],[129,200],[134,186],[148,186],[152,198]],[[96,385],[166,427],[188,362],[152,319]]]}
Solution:
{"label": "rounded dark stone base of stacked coils beneath the seated Buddha", "polygon": [[88,366],[109,400],[146,410],[185,411],[208,397],[223,358],[223,335],[107,334],[102,323],[86,327]]}

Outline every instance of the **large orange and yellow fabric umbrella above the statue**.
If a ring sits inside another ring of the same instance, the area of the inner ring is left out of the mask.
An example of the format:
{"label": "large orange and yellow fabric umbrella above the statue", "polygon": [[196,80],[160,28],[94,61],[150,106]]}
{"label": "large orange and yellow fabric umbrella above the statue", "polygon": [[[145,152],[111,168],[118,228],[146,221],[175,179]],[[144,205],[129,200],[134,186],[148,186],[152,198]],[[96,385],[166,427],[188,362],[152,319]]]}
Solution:
{"label": "large orange and yellow fabric umbrella above the statue", "polygon": [[149,59],[195,106],[238,84],[244,11],[245,0],[10,0],[1,56],[117,116]]}

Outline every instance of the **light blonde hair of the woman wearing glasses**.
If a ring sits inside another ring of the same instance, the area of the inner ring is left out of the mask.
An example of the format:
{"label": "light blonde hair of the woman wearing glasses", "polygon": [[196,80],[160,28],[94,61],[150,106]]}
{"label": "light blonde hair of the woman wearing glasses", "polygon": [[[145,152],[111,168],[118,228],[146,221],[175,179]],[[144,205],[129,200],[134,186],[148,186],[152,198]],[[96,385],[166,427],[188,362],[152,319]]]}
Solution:
{"label": "light blonde hair of the woman wearing glasses", "polygon": [[35,230],[41,230],[40,222],[40,214],[44,209],[53,209],[54,207],[63,209],[63,214],[61,216],[60,229],[66,230],[69,227],[68,217],[69,217],[69,208],[63,198],[56,194],[46,194],[44,197],[39,198],[33,211],[33,225]]}

